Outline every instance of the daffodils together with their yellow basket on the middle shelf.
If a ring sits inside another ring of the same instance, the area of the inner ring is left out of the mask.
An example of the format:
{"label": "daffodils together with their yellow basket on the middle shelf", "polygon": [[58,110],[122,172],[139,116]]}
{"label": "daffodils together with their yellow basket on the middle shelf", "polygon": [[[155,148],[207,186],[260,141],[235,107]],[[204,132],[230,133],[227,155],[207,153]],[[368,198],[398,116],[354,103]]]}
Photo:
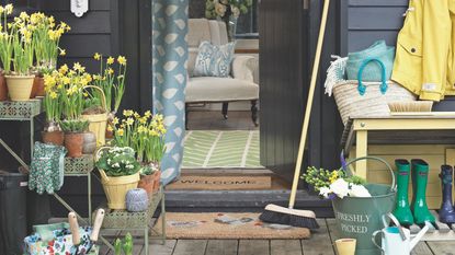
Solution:
{"label": "daffodils together with their yellow basket on the middle shelf", "polygon": [[[93,91],[91,96],[104,103],[104,113],[84,114],[83,118],[91,121],[90,130],[96,132],[98,142],[105,143],[105,138],[112,139],[112,121],[118,111],[125,93],[126,58],[117,59],[94,54],[93,58],[100,61],[100,72],[93,76],[93,85],[101,91]],[[107,127],[111,128],[107,128]]]}

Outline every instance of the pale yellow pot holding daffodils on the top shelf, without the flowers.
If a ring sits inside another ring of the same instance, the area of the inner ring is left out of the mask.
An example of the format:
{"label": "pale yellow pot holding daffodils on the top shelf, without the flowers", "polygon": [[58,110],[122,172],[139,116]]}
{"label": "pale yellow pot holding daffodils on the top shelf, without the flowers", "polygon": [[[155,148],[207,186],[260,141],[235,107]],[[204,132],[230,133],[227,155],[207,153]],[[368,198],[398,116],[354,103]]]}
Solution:
{"label": "pale yellow pot holding daffodils on the top shelf, without the flowers", "polygon": [[34,76],[5,76],[11,101],[29,101]]}

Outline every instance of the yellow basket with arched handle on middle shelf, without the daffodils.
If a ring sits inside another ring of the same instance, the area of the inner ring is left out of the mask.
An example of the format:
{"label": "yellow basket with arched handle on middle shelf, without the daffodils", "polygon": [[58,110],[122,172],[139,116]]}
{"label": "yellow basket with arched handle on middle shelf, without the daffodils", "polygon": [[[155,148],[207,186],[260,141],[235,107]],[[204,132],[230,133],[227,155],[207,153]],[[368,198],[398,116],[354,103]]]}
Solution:
{"label": "yellow basket with arched handle on middle shelf, without the daffodils", "polygon": [[89,120],[89,131],[93,132],[96,136],[96,146],[101,147],[106,143],[106,127],[107,127],[107,109],[106,109],[106,98],[104,92],[94,85],[87,85],[84,89],[92,88],[99,90],[103,97],[103,107],[105,109],[104,114],[84,114],[82,119]]}

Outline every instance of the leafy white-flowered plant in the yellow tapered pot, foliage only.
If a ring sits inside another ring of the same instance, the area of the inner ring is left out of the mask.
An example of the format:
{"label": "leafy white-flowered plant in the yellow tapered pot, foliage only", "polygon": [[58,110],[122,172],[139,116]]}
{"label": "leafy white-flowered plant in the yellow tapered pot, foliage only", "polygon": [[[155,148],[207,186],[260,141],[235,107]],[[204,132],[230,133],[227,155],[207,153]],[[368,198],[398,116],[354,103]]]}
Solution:
{"label": "leafy white-flowered plant in the yellow tapered pot, foliage only", "polygon": [[96,161],[96,167],[112,177],[132,175],[141,169],[136,160],[135,151],[130,147],[112,147],[102,150]]}

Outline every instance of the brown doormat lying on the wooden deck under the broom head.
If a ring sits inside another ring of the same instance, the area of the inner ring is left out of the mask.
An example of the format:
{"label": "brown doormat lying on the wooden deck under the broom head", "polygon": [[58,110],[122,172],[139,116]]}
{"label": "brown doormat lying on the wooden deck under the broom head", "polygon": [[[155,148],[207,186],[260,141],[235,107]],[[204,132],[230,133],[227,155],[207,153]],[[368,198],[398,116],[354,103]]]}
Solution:
{"label": "brown doormat lying on the wooden deck under the broom head", "polygon": [[[168,212],[168,239],[309,239],[310,231],[260,221],[260,213]],[[161,232],[161,218],[155,229]]]}

